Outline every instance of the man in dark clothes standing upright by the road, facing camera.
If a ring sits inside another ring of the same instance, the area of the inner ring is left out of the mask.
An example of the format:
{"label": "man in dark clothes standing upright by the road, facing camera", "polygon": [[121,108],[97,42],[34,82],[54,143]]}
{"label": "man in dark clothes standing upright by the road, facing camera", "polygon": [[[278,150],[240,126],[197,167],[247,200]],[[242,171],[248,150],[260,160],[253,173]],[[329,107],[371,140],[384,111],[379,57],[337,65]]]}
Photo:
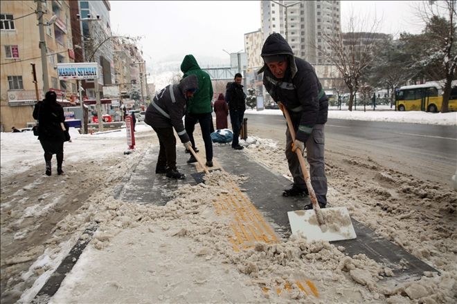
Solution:
{"label": "man in dark clothes standing upright by the road, facing camera", "polygon": [[240,146],[239,143],[244,111],[246,111],[246,94],[244,93],[243,86],[241,84],[242,79],[242,75],[240,73],[236,73],[235,81],[227,84],[227,90],[225,94],[233,131],[232,148],[236,150],[243,149],[243,146]]}

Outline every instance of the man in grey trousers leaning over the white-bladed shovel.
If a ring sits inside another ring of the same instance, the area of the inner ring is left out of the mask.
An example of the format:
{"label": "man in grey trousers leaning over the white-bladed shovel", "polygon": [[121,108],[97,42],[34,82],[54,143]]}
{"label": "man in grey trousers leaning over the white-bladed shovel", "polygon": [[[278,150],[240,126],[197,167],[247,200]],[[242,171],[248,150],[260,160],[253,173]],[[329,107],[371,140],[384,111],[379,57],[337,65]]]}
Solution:
{"label": "man in grey trousers leaning over the white-bladed shovel", "polygon": [[[279,33],[267,37],[261,54],[265,64],[258,71],[263,84],[275,102],[281,102],[289,111],[296,132],[294,146],[303,152],[306,147],[310,163],[311,184],[321,208],[327,204],[327,178],[324,162],[324,125],[327,122],[328,99],[314,68],[307,61],[294,57],[292,48]],[[292,146],[292,137],[286,129],[285,155],[294,178],[292,188],[283,196],[307,194],[298,157]],[[305,206],[312,209],[312,205]]]}

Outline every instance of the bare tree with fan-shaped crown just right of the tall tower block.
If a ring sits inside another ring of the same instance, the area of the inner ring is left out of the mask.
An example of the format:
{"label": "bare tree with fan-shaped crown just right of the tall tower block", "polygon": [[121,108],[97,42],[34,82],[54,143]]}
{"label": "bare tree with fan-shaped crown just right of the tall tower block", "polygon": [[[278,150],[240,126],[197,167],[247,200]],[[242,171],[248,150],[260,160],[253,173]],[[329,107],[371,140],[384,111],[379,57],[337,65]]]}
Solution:
{"label": "bare tree with fan-shaped crown just right of the tall tower block", "polygon": [[330,48],[320,50],[332,61],[332,64],[337,66],[348,87],[349,111],[352,111],[352,102],[359,90],[359,79],[372,60],[372,50],[379,36],[375,32],[378,26],[379,21],[374,19],[373,24],[369,26],[369,31],[363,32],[364,21],[357,20],[352,12],[348,22],[348,32],[323,30],[323,39]]}

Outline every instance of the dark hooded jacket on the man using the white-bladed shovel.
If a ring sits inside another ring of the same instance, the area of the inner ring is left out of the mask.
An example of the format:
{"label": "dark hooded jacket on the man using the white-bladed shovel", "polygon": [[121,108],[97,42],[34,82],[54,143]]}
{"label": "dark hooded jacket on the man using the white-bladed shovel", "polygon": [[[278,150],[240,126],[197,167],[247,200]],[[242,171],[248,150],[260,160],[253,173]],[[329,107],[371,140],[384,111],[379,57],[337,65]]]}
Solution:
{"label": "dark hooded jacket on the man using the white-bladed shovel", "polygon": [[296,129],[296,139],[306,142],[314,124],[325,124],[328,99],[314,68],[307,61],[294,57],[292,48],[278,33],[269,35],[262,47],[262,57],[285,55],[287,70],[283,79],[274,77],[265,64],[259,73],[263,84],[275,102],[281,102],[289,111]]}

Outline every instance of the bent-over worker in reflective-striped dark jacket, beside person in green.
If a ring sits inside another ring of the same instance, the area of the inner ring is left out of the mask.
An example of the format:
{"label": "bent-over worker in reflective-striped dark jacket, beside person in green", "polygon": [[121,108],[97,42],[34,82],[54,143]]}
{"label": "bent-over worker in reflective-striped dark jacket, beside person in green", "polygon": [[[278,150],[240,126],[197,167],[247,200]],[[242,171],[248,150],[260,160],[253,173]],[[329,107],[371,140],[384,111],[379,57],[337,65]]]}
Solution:
{"label": "bent-over worker in reflective-striped dark jacket, beside person in green", "polygon": [[189,99],[198,88],[197,76],[190,75],[177,85],[165,86],[151,104],[147,106],[145,123],[159,137],[159,157],[156,163],[156,174],[166,174],[168,178],[183,179],[186,177],[176,167],[176,137],[173,128],[186,149],[189,149],[189,136],[183,126],[183,116]]}

